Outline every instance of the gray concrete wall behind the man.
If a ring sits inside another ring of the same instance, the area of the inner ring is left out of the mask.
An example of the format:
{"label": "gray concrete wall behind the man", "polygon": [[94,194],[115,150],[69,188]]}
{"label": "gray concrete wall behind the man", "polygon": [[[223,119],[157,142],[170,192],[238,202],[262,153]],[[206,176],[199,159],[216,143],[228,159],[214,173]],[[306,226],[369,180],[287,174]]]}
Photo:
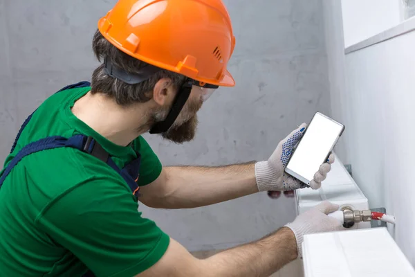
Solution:
{"label": "gray concrete wall behind the man", "polygon": [[[0,0],[0,157],[21,122],[64,85],[89,80],[91,36],[115,1]],[[219,89],[200,112],[192,143],[145,136],[165,165],[268,159],[277,143],[319,110],[329,113],[321,0],[225,0],[237,46]],[[190,250],[248,242],[295,217],[293,199],[266,193],[181,211],[142,208]]]}

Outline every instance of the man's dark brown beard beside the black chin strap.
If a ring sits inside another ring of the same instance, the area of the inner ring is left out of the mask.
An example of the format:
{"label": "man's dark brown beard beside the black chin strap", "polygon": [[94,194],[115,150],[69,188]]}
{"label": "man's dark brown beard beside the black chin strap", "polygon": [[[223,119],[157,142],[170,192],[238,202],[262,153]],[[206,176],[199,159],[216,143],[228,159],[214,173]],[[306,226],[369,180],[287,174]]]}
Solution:
{"label": "man's dark brown beard beside the black chin strap", "polygon": [[185,143],[187,141],[192,141],[196,135],[197,127],[197,114],[194,114],[192,118],[185,121],[183,124],[178,126],[172,126],[167,132],[161,134],[164,139],[173,141],[174,143]]}

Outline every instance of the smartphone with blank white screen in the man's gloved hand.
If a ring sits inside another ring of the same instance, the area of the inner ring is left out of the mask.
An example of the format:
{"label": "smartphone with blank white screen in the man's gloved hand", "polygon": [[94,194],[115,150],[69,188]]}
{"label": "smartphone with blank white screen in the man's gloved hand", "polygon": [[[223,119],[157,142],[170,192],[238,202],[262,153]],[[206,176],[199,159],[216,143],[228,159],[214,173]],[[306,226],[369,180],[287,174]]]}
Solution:
{"label": "smartphone with blank white screen in the man's gloved hand", "polygon": [[317,111],[288,160],[285,172],[309,185],[344,131],[344,125]]}

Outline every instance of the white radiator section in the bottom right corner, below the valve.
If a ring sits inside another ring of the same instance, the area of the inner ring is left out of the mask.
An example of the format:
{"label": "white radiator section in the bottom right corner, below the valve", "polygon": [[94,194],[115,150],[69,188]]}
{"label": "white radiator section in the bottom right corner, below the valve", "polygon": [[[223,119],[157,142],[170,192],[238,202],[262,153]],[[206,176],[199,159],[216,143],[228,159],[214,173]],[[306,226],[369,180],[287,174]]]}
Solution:
{"label": "white radiator section in the bottom right corner, below the valve", "polygon": [[415,277],[385,227],[304,235],[305,277]]}

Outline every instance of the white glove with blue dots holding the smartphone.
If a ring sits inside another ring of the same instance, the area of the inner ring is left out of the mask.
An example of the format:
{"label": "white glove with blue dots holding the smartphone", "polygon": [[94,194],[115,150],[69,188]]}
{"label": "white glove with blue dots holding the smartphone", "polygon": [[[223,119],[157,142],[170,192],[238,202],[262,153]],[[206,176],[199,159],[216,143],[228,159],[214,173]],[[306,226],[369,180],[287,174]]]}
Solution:
{"label": "white glove with blue dots holding the smartphone", "polygon": [[[268,161],[259,161],[255,163],[255,178],[259,191],[265,190],[295,190],[297,188],[305,188],[306,184],[298,179],[291,177],[284,172],[284,168],[291,157],[293,148],[302,138],[306,130],[306,123],[299,126],[284,140],[282,140],[277,149],[273,152]],[[316,190],[322,186],[322,181],[326,179],[327,173],[331,169],[331,163],[334,162],[334,154],[330,154],[327,163],[320,166],[318,172],[315,173],[314,179],[310,182],[310,187]]]}

